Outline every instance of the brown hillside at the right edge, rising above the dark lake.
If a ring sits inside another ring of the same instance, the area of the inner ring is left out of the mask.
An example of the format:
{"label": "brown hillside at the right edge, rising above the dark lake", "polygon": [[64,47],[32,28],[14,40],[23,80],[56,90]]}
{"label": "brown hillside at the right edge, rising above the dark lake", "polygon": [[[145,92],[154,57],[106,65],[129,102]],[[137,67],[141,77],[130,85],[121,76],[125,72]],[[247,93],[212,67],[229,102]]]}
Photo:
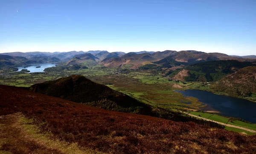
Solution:
{"label": "brown hillside at the right edge, rising above the dark lake", "polygon": [[248,97],[256,93],[256,66],[239,69],[219,80],[214,88],[233,96]]}

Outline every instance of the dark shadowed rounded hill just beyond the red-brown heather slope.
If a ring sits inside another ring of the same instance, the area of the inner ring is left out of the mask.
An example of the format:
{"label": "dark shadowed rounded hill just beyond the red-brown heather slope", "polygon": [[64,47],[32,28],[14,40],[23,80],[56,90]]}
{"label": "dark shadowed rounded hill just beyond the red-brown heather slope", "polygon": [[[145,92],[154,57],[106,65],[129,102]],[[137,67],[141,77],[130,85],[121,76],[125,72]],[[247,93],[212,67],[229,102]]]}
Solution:
{"label": "dark shadowed rounded hill just beyond the red-brown heather slope", "polygon": [[119,93],[108,86],[94,83],[81,75],[72,75],[54,81],[38,83],[31,86],[29,89],[30,91],[60,97],[78,103],[103,99],[114,101],[120,106],[132,106],[131,103],[133,102],[139,103],[128,95]]}

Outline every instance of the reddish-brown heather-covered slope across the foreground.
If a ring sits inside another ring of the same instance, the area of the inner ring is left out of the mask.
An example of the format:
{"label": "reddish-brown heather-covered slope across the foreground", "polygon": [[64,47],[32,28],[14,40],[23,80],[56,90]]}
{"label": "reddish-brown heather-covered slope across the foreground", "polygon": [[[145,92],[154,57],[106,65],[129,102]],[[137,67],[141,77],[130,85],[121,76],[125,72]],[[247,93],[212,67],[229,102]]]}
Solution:
{"label": "reddish-brown heather-covered slope across the foreground", "polygon": [[[195,123],[180,123],[155,117],[106,111],[60,98],[33,93],[12,86],[0,86],[1,125],[8,118],[24,114],[32,118],[52,139],[77,143],[81,150],[92,149],[105,153],[253,153],[256,136],[247,136],[224,129]],[[6,116],[12,114],[12,116]],[[17,127],[12,127],[17,129]],[[12,130],[11,129],[11,130]],[[18,134],[20,130],[16,130]],[[9,131],[9,132],[13,132]],[[15,136],[0,131],[1,140]],[[26,136],[24,136],[26,137]],[[25,142],[21,137],[6,140],[2,151],[34,153],[41,146]],[[18,149],[17,149],[18,148]],[[61,153],[51,147],[42,153]],[[26,150],[26,151],[25,151]]]}

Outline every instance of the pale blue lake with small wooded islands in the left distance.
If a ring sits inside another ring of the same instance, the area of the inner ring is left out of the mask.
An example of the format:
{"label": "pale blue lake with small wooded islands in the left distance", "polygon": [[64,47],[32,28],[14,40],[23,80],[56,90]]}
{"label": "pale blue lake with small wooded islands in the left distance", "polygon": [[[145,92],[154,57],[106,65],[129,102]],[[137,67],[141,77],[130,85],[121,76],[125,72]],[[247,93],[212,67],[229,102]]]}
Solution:
{"label": "pale blue lake with small wooded islands in the left distance", "polygon": [[[18,71],[21,71],[22,69],[27,69],[30,72],[29,73],[33,73],[33,72],[44,72],[45,68],[49,68],[49,67],[55,67],[58,64],[52,64],[52,63],[46,63],[46,64],[34,64],[34,65],[29,65],[29,66],[22,66],[22,67],[18,67]],[[40,66],[40,67],[39,67]],[[37,68],[38,67],[38,68]]]}

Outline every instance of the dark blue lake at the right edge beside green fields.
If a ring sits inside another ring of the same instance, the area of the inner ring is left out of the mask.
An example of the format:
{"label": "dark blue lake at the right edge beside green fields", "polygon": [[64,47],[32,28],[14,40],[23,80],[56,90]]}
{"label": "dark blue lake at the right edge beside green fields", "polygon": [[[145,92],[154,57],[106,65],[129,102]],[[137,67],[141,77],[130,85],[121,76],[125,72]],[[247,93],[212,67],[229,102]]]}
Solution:
{"label": "dark blue lake at the right edge beside green fields", "polygon": [[204,111],[219,111],[220,115],[228,117],[238,117],[251,123],[256,123],[256,103],[236,97],[217,95],[208,91],[189,89],[186,91],[176,91],[184,96],[196,97],[206,107]]}

